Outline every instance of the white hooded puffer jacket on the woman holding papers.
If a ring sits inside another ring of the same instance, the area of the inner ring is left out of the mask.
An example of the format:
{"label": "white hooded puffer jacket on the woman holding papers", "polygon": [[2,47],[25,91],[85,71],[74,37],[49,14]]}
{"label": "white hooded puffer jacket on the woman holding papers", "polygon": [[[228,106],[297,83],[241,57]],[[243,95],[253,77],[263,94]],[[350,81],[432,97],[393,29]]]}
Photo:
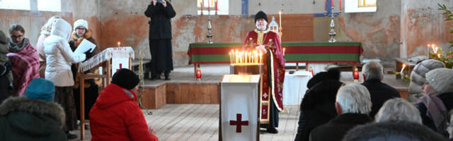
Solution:
{"label": "white hooded puffer jacket on the woman holding papers", "polygon": [[44,53],[47,66],[45,79],[58,87],[73,86],[71,63],[79,63],[86,59],[85,54],[74,54],[69,47],[71,25],[66,20],[59,19],[52,26],[50,36],[44,40]]}

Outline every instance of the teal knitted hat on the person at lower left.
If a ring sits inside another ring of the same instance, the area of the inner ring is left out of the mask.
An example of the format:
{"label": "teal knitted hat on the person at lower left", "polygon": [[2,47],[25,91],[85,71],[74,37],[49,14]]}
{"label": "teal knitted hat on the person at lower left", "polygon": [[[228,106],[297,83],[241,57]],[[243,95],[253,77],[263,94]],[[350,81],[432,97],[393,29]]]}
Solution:
{"label": "teal knitted hat on the person at lower left", "polygon": [[29,99],[40,99],[46,102],[53,102],[55,97],[55,85],[50,80],[35,78],[28,84],[24,95]]}

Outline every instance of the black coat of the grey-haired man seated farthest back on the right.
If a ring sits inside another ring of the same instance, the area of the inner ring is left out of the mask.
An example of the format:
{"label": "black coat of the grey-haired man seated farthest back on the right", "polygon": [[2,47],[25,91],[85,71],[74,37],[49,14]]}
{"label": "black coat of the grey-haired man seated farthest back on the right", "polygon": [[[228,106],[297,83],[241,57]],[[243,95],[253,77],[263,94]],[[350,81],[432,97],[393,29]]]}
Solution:
{"label": "black coat of the grey-haired man seated farthest back on the right", "polygon": [[369,112],[369,117],[371,118],[374,118],[374,115],[377,114],[377,111],[381,109],[384,102],[388,99],[401,97],[398,90],[386,85],[381,80],[366,80],[362,85],[367,87],[369,96],[371,97],[372,106],[371,112]]}

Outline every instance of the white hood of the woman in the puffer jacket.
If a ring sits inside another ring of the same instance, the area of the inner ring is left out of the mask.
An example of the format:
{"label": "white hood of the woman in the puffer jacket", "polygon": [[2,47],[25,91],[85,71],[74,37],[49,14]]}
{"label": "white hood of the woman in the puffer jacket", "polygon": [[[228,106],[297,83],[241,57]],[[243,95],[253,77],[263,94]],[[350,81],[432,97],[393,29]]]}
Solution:
{"label": "white hood of the woman in the puffer jacket", "polygon": [[69,41],[71,37],[72,27],[66,20],[62,18],[57,19],[55,24],[52,25],[52,30],[50,30],[50,35],[57,35]]}

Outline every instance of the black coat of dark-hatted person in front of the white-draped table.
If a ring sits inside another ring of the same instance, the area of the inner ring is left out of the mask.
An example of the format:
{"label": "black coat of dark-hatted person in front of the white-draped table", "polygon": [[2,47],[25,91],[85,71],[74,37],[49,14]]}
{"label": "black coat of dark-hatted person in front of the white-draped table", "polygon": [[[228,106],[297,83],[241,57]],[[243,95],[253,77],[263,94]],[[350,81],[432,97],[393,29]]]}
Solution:
{"label": "black coat of dark-hatted person in front of the white-draped table", "polygon": [[309,140],[311,130],[337,116],[336,95],[343,82],[325,80],[306,91],[301,103],[299,126],[295,141]]}

